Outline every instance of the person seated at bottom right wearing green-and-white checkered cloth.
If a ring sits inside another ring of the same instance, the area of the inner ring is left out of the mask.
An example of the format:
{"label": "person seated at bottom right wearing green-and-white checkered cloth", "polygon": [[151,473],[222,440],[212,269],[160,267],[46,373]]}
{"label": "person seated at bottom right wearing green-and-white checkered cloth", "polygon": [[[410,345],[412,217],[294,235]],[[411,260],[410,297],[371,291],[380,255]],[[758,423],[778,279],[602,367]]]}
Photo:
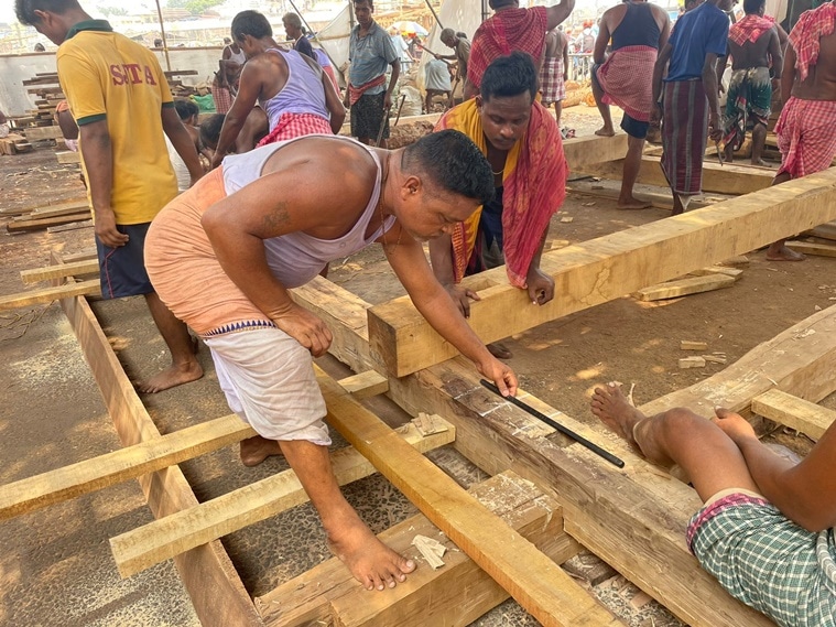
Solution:
{"label": "person seated at bottom right wearing green-and-white checkered cloth", "polygon": [[836,624],[836,424],[795,464],[727,409],[647,417],[617,383],[597,388],[591,409],[650,461],[685,471],[705,504],[688,547],[729,594],[778,625]]}

